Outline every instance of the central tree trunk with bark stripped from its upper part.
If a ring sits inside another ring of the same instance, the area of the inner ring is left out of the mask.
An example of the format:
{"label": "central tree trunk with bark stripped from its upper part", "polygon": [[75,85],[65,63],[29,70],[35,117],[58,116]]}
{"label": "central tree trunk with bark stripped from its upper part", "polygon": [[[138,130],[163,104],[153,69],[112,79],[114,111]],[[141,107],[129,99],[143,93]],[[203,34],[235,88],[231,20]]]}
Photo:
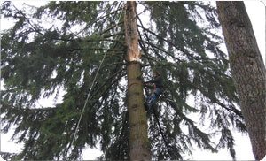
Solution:
{"label": "central tree trunk with bark stripped from its upper part", "polygon": [[127,51],[128,74],[128,109],[129,109],[129,156],[130,160],[151,160],[149,149],[147,119],[144,107],[143,83],[141,80],[140,52],[138,50],[136,2],[126,4],[124,17]]}

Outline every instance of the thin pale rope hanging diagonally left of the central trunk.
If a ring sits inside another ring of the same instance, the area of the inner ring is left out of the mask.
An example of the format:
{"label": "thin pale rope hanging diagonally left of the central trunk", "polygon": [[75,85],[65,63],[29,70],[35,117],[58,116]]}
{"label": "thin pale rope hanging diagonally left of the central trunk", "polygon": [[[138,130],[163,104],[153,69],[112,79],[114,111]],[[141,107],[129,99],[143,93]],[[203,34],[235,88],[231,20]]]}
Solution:
{"label": "thin pale rope hanging diagonally left of the central trunk", "polygon": [[[122,12],[123,12],[123,10],[121,11],[121,13],[122,13]],[[119,16],[119,18],[118,18],[118,21],[121,19],[121,13],[120,13],[120,16]],[[116,26],[114,27],[114,31],[116,31],[116,28],[117,28],[117,27],[118,27],[118,23],[117,23]],[[117,36],[118,36],[118,35],[116,35],[115,38],[117,38]],[[78,124],[77,124],[77,126],[75,127],[73,140],[72,140],[72,142],[71,142],[71,144],[70,144],[70,146],[69,146],[70,148],[71,148],[71,146],[72,146],[73,143],[74,143],[74,139],[75,139],[75,137],[76,137],[76,134],[77,134],[78,128],[79,128],[80,123],[81,123],[81,120],[82,120],[82,115],[84,114],[85,107],[87,106],[87,103],[89,102],[89,98],[90,98],[90,94],[91,94],[92,88],[93,88],[93,86],[94,86],[94,84],[95,84],[95,81],[96,81],[96,79],[97,79],[98,72],[99,72],[99,70],[100,70],[101,66],[103,65],[103,62],[104,62],[104,60],[105,60],[105,58],[106,58],[107,52],[108,52],[108,49],[106,50],[106,53],[105,53],[104,57],[102,58],[102,61],[101,61],[100,65],[98,66],[98,71],[97,71],[97,73],[96,73],[96,75],[95,75],[95,77],[94,77],[94,80],[92,81],[92,84],[91,84],[91,87],[90,87],[90,92],[89,92],[89,94],[88,94],[88,96],[87,96],[87,98],[86,98],[86,101],[85,101],[85,103],[84,103],[84,106],[83,106],[83,108],[82,108],[82,113],[81,113],[80,119],[79,119],[79,121],[78,121]]]}

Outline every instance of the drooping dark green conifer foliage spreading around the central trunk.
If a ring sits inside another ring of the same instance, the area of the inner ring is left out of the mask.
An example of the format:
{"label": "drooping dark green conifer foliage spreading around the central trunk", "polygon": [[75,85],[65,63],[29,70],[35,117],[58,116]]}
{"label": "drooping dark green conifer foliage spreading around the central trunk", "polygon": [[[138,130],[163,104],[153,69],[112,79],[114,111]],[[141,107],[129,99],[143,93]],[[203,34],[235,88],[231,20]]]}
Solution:
{"label": "drooping dark green conifer foliage spreading around the central trunk", "polygon": [[[4,18],[15,21],[1,35],[2,131],[15,126],[13,139],[24,143],[12,158],[79,159],[85,147],[99,143],[102,159],[129,159],[135,121],[130,120],[130,103],[137,96],[144,101],[142,86],[131,87],[150,80],[153,68],[162,74],[165,92],[155,107],[161,128],[154,114],[140,122],[148,125],[151,158],[182,159],[194,146],[212,152],[227,148],[235,158],[231,127],[246,132],[246,126],[228,58],[219,47],[223,41],[215,33],[215,8],[200,2],[136,6],[141,9],[136,19],[142,57],[134,64],[127,59],[126,33],[131,31],[124,26],[123,2],[59,1],[23,9],[11,2],[2,5]],[[138,73],[130,68],[133,64]],[[60,93],[62,101],[54,106],[36,105]],[[145,119],[143,105],[136,114]]]}

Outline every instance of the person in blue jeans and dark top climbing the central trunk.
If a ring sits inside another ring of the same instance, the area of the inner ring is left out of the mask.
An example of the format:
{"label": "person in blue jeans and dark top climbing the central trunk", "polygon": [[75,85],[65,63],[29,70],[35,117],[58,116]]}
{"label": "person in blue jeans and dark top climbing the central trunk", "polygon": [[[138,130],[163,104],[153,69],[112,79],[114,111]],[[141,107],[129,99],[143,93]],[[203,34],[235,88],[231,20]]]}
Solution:
{"label": "person in blue jeans and dark top climbing the central trunk", "polygon": [[[160,76],[160,73],[158,71],[153,71],[153,80],[146,81],[145,87],[147,88],[153,88],[153,93],[147,97],[145,101],[145,105],[147,108],[151,108],[153,104],[155,104],[159,98],[159,96],[162,93],[162,78]],[[149,109],[148,109],[149,110]]]}

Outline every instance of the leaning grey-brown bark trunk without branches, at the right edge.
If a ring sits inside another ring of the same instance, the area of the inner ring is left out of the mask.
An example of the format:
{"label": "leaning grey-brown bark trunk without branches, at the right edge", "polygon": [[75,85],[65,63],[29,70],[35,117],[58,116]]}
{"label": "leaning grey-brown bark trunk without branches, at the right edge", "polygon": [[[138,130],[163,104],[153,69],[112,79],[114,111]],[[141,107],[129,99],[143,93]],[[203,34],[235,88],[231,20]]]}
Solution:
{"label": "leaning grey-brown bark trunk without branches, at the right edge", "polygon": [[250,137],[254,157],[265,157],[265,66],[254,37],[245,4],[238,1],[217,2],[229,53],[231,74],[239,93],[240,108]]}

